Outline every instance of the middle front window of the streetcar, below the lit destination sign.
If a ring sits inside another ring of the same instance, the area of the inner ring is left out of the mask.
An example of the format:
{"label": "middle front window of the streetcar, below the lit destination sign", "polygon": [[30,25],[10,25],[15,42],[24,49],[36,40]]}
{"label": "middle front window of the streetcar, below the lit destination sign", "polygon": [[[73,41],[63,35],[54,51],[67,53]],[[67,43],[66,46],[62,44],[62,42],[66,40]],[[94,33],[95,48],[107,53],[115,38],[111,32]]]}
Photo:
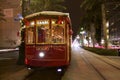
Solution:
{"label": "middle front window of the streetcar, below the lit destination sign", "polygon": [[37,21],[37,43],[49,43],[50,42],[50,27],[49,20],[43,19]]}

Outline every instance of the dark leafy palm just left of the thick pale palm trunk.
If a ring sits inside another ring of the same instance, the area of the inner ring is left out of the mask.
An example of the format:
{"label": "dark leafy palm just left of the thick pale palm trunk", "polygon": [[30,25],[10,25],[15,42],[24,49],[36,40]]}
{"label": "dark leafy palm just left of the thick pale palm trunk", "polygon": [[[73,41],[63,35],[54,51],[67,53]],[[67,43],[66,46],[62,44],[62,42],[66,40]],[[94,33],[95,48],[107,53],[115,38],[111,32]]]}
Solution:
{"label": "dark leafy palm just left of the thick pale palm trunk", "polygon": [[[93,4],[94,3],[94,4]],[[96,29],[101,26],[100,22],[101,22],[101,7],[98,3],[96,3],[96,0],[85,0],[83,1],[83,3],[81,4],[81,8],[83,8],[85,10],[85,15],[82,18],[82,22],[83,24],[85,24],[84,26],[86,27],[87,31],[88,31],[88,36],[91,36],[92,38],[92,42],[93,42],[93,47],[95,46],[95,42],[98,39],[95,39],[95,34],[97,34]],[[99,34],[99,37],[101,37],[101,35]],[[98,43],[100,43],[100,41],[97,41]]]}

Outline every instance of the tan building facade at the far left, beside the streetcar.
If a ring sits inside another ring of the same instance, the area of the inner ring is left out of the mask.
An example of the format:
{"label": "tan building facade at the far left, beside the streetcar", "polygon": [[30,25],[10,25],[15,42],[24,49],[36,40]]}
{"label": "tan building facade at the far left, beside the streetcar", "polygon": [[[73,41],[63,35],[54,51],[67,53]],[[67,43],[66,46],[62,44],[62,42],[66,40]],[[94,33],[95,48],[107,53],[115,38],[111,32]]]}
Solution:
{"label": "tan building facade at the far left, beside the streetcar", "polygon": [[20,0],[1,0],[0,8],[6,21],[0,22],[0,48],[17,47],[20,44],[19,15],[21,14]]}

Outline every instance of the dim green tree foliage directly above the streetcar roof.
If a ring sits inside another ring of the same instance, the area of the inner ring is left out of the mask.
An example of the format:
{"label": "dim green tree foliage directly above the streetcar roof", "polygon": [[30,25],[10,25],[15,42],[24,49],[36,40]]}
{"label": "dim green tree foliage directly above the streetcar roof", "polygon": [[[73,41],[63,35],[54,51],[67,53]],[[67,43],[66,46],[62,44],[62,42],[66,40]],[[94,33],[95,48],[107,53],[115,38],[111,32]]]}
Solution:
{"label": "dim green tree foliage directly above the streetcar roof", "polygon": [[29,0],[29,2],[24,1],[24,13],[25,15],[39,12],[39,11],[63,11],[66,9],[62,5],[64,0]]}

